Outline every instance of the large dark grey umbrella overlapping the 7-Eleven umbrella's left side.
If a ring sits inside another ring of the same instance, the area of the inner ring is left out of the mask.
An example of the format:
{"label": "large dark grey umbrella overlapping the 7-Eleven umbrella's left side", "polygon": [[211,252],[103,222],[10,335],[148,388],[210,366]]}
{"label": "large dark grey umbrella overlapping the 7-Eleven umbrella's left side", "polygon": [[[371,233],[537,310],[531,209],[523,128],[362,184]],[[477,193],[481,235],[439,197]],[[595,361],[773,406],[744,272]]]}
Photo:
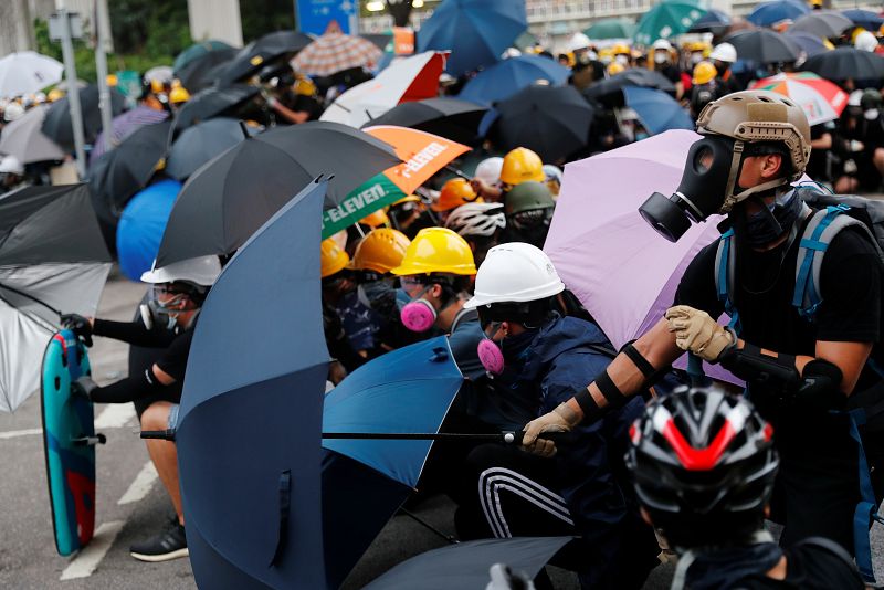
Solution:
{"label": "large dark grey umbrella overlapping the 7-Eleven umbrella's left side", "polygon": [[401,164],[393,149],[346,125],[312,122],[250,137],[203,166],[181,189],[157,265],[230,254],[314,178],[334,176],[328,207]]}

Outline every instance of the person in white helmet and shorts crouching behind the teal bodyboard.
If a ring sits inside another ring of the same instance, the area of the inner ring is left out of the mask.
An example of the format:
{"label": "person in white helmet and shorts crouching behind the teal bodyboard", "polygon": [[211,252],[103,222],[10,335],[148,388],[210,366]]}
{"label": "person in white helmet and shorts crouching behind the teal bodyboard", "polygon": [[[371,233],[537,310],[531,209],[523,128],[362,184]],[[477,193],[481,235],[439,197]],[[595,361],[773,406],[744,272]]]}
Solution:
{"label": "person in white helmet and shorts crouching behind the teal bodyboard", "polygon": [[[200,256],[151,268],[141,275],[150,285],[140,322],[112,322],[76,314],[62,316],[62,323],[87,345],[92,336],[106,336],[130,345],[165,348],[162,356],[141,375],[101,387],[91,377],[81,377],[72,390],[96,403],[150,403],[140,414],[141,430],[175,429],[187,359],[200,308],[218,275],[218,256]],[[148,440],[147,450],[175,506],[177,519],[160,535],[131,546],[129,552],[141,561],[166,561],[187,557],[185,516],[178,485],[178,452],[173,443]]]}

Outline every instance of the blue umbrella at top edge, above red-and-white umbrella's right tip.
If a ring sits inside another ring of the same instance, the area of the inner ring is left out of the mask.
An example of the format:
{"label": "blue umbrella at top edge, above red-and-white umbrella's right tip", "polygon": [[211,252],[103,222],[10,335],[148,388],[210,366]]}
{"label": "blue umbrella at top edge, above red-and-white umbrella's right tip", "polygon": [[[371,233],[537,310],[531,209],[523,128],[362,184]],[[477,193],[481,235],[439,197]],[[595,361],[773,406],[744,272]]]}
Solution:
{"label": "blue umbrella at top edge, above red-and-white umbrella's right tip", "polygon": [[445,71],[453,76],[499,60],[528,28],[525,2],[448,0],[421,25],[418,51],[451,51]]}

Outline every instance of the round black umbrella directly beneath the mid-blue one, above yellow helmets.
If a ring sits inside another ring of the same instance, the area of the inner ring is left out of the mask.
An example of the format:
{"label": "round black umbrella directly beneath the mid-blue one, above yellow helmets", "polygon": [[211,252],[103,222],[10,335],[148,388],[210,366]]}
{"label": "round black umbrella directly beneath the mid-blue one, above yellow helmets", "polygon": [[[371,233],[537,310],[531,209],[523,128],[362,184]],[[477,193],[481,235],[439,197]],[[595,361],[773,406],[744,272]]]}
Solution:
{"label": "round black umbrella directly beneath the mid-blue one, above yellow helmets", "polygon": [[528,86],[494,107],[490,138],[498,149],[526,147],[556,162],[587,144],[593,109],[573,86]]}

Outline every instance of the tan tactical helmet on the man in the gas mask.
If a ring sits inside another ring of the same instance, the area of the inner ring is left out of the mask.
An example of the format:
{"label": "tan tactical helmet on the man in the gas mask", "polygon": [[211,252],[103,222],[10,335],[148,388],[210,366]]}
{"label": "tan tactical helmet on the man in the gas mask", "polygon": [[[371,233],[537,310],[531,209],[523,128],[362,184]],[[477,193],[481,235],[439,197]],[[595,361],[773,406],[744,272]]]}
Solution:
{"label": "tan tactical helmet on the man in the gas mask", "polygon": [[[707,104],[697,117],[697,133],[736,139],[730,178],[722,213],[750,194],[796,181],[804,173],[810,158],[810,125],[807,115],[790,98],[769,91],[728,94]],[[792,162],[792,173],[734,194],[743,150],[747,143],[781,141]]]}

